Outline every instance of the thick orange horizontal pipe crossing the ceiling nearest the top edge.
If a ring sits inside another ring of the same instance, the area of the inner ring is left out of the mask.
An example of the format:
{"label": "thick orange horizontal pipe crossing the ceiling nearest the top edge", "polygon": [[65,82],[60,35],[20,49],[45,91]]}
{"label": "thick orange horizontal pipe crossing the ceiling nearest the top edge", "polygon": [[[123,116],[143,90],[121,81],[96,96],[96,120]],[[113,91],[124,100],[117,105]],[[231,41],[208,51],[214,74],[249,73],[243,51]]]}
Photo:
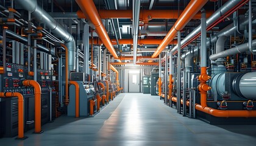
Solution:
{"label": "thick orange horizontal pipe crossing the ceiling nearest the top edge", "polygon": [[[183,10],[180,10],[180,13]],[[213,12],[207,12],[207,18],[212,15]],[[77,16],[79,18],[87,17],[81,10],[77,11]],[[99,16],[101,19],[132,19],[132,10],[99,10]],[[140,20],[150,21],[151,19],[178,19],[178,10],[140,10]],[[201,13],[196,13],[192,19],[201,19]]]}

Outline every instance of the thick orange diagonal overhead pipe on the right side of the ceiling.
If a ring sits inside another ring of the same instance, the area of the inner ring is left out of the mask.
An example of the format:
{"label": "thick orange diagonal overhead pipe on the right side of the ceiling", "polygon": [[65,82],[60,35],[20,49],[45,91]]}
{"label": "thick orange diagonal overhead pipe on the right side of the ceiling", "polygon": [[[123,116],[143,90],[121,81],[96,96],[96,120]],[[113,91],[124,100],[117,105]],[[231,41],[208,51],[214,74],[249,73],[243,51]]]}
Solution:
{"label": "thick orange diagonal overhead pipe on the right side of the ceiling", "polygon": [[171,30],[169,30],[162,43],[158,46],[157,50],[155,50],[152,58],[157,57],[162,52],[162,50],[165,49],[169,42],[176,37],[177,32],[182,30],[207,2],[207,0],[191,0],[190,3],[188,3],[185,10],[179,16],[179,19],[177,19],[174,26],[172,26]]}

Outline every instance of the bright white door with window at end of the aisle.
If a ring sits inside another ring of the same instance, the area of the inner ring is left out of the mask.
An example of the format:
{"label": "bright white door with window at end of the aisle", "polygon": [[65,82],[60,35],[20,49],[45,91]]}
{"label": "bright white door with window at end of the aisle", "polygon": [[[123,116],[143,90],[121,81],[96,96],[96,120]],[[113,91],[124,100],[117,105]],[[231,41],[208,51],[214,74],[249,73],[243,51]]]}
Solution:
{"label": "bright white door with window at end of the aisle", "polygon": [[140,92],[140,71],[129,71],[128,92]]}

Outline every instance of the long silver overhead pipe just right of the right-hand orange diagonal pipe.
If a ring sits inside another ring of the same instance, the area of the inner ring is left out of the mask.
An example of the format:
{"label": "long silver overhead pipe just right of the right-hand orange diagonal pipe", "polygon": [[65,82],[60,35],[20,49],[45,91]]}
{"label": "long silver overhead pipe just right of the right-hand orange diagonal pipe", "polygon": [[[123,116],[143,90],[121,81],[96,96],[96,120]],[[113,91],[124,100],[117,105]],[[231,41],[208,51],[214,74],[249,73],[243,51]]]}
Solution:
{"label": "long silver overhead pipe just right of the right-hand orange diagonal pipe", "polygon": [[[239,2],[241,2],[241,0],[230,0],[227,1],[224,5],[222,5],[221,8],[219,8],[218,10],[216,10],[215,13],[213,13],[212,16],[210,16],[207,21],[206,21],[206,26],[210,26],[210,24],[214,23],[219,17],[222,16],[222,14],[227,13],[230,9],[232,9],[233,7],[235,7],[235,5],[237,5]],[[195,35],[197,35],[197,33],[201,32],[201,25],[196,27],[196,29],[193,30],[193,32],[191,32],[190,34],[188,34],[182,41],[181,41],[181,46],[183,46],[183,44],[187,43],[189,40],[191,40],[191,38],[193,38]],[[178,46],[176,45],[173,50],[174,52],[178,49]]]}

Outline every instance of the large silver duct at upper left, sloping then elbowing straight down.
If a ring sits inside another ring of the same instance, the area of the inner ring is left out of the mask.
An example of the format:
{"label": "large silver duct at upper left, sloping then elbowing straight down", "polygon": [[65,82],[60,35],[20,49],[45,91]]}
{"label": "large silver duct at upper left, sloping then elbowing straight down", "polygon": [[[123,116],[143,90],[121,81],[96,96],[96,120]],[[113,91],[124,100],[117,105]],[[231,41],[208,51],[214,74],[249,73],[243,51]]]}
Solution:
{"label": "large silver duct at upper left, sloping then elbowing straight down", "polygon": [[74,37],[68,33],[52,16],[38,6],[37,0],[16,0],[21,7],[25,10],[30,11],[31,15],[43,22],[46,26],[51,29],[51,32],[65,41],[66,47],[68,47],[68,70],[73,71],[75,69],[76,60],[76,44]]}

